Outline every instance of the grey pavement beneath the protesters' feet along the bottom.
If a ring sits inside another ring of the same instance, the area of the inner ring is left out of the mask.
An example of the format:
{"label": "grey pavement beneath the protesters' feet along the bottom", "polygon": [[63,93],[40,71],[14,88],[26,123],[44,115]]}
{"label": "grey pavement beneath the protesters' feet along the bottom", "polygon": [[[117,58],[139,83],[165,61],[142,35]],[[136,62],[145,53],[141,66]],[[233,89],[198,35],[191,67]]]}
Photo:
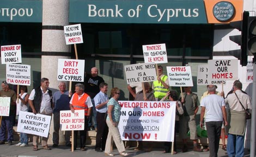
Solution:
{"label": "grey pavement beneath the protesters' feet along the bottom", "polygon": [[[66,147],[65,145],[60,145],[57,148],[52,148],[51,151],[47,151],[43,149],[41,146],[39,146],[38,151],[32,150],[32,142],[29,142],[28,147],[18,147],[15,146],[17,142],[14,142],[13,145],[9,146],[6,142],[5,145],[0,145],[0,157],[7,157],[7,156],[19,156],[19,157],[25,157],[25,156],[40,156],[40,157],[84,157],[84,156],[105,156],[104,152],[99,153],[94,151],[94,146],[88,146],[87,145],[87,151],[82,152],[80,149],[77,149],[75,152],[71,152],[69,147]],[[170,156],[170,153],[162,153],[162,149],[156,148],[152,152],[143,152],[143,151],[133,151],[133,148],[126,149],[127,153],[130,153],[129,156],[138,156],[138,157],[160,157],[160,156]],[[120,156],[117,149],[114,148],[113,154],[115,156]],[[247,152],[249,154],[249,152]],[[173,156],[179,156],[179,157],[190,157],[190,156],[198,156],[198,157],[209,157],[209,152],[193,152],[192,149],[190,149],[186,153],[181,153],[178,149],[178,154],[175,154]],[[223,151],[221,148],[218,151],[218,156],[227,156],[225,154],[225,151]],[[246,155],[249,156],[249,155]]]}

